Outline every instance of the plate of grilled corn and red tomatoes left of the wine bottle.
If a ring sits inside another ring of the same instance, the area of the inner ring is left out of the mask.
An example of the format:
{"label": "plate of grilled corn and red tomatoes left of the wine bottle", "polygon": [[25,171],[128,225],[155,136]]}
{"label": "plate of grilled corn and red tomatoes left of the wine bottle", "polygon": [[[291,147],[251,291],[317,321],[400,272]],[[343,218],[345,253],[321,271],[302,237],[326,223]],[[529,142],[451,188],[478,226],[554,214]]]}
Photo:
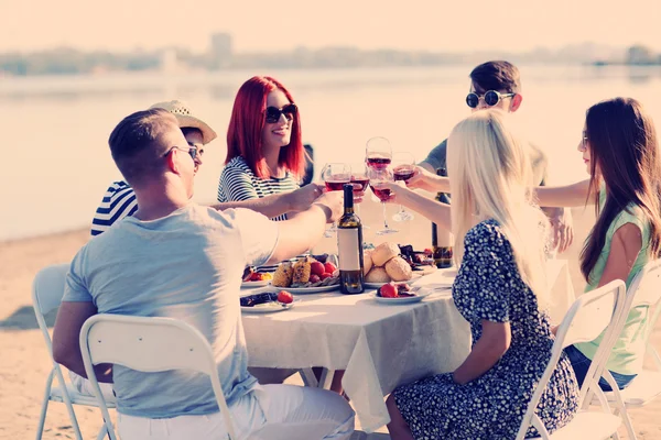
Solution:
{"label": "plate of grilled corn and red tomatoes left of the wine bottle", "polygon": [[292,294],[316,294],[339,288],[339,271],[326,261],[322,263],[312,255],[296,262],[283,262],[273,273],[273,287],[285,288]]}

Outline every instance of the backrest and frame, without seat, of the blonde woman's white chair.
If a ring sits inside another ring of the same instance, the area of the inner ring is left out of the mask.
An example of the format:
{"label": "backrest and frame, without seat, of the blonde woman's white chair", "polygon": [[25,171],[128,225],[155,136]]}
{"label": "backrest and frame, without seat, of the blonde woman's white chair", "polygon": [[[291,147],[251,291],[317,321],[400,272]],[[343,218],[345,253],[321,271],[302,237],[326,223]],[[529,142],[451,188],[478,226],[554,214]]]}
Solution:
{"label": "backrest and frame, without seat, of the blonde woman's white chair", "polygon": [[610,354],[610,350],[615,344],[618,334],[614,331],[620,319],[626,296],[626,285],[622,280],[617,279],[608,283],[598,289],[581,295],[566,312],[561,324],[557,327],[555,342],[551,351],[551,359],[542,378],[537,385],[532,398],[528,405],[517,440],[522,440],[530,425],[532,425],[543,439],[549,439],[549,432],[542,420],[534,414],[540,398],[546,384],[551,380],[551,375],[557,366],[560,356],[565,346],[576,342],[593,341],[602,332],[605,331],[604,339],[597,349],[595,359],[585,376],[583,386],[581,387],[581,398],[578,402],[579,408],[589,405],[593,394],[599,397],[603,408],[608,411],[608,404],[604,392],[598,385],[602,372],[606,364],[606,360]]}

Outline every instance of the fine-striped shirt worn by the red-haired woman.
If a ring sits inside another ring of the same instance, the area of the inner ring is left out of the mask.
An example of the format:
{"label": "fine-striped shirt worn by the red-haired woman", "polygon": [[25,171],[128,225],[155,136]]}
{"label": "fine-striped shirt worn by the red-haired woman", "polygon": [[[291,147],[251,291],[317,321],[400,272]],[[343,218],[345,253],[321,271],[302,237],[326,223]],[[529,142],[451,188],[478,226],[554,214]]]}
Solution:
{"label": "fine-striped shirt worn by the red-haired woman", "polygon": [[[271,177],[269,179],[262,179],[252,173],[252,169],[250,169],[243,157],[237,156],[229,161],[229,163],[225,165],[223,173],[220,173],[218,201],[249,200],[299,188],[299,182],[290,172],[286,172],[286,175],[282,178]],[[271,220],[286,220],[286,213],[273,217]],[[296,258],[292,258],[292,261],[295,260]],[[257,272],[275,272],[277,268],[277,264],[259,266],[257,267]]]}

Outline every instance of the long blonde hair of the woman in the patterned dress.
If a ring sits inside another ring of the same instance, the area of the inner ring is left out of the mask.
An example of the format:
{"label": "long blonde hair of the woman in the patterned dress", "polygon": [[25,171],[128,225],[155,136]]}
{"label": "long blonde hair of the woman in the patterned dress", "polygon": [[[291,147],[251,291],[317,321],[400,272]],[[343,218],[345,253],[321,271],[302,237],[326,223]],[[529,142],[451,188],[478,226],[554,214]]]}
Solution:
{"label": "long blonde hair of the woman in the patterned dress", "polygon": [[447,166],[452,187],[454,257],[464,256],[464,238],[477,223],[495,219],[509,240],[521,279],[548,306],[544,242],[548,220],[533,206],[528,145],[496,109],[473,113],[452,131]]}

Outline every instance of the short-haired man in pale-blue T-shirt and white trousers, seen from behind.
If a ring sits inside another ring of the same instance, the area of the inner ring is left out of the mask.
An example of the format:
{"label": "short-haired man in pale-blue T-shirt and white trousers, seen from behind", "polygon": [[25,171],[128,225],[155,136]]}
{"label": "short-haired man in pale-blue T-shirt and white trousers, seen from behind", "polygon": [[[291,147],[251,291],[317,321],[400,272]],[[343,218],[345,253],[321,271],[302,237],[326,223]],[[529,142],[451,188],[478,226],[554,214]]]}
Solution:
{"label": "short-haired man in pale-blue T-shirt and white trousers, seen from behind", "polygon": [[[354,411],[342,396],[262,386],[250,375],[239,309],[245,265],[281,261],[311,248],[339,216],[340,195],[323,195],[283,222],[247,209],[198,206],[189,200],[191,147],[176,119],[162,109],[124,118],[109,144],[136,190],[139,210],[74,257],[53,331],[55,361],[85,375],[77,337],[95,314],[176,318],[209,341],[240,439],[348,439]],[[97,377],[113,383],[123,440],[225,438],[204,375],[106,365]]]}

